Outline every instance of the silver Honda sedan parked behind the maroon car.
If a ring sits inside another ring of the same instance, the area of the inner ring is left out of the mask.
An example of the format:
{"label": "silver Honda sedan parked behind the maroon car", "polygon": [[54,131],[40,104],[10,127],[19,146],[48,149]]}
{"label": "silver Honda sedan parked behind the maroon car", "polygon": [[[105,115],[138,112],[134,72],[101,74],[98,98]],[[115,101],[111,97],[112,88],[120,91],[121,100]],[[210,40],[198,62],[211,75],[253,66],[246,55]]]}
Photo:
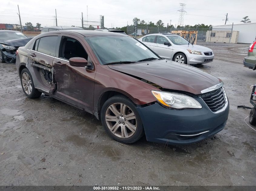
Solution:
{"label": "silver Honda sedan parked behind the maroon car", "polygon": [[212,62],[212,49],[188,43],[176,34],[149,34],[138,39],[160,57],[184,64],[203,64]]}

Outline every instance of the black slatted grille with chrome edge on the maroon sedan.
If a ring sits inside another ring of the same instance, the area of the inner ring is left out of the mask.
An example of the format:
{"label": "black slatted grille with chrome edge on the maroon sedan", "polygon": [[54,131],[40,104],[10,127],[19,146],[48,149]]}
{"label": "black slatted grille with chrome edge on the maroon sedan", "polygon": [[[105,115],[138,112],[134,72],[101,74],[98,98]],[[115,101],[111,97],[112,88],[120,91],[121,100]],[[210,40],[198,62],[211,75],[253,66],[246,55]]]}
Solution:
{"label": "black slatted grille with chrome edge on the maroon sedan", "polygon": [[227,98],[224,94],[223,88],[201,94],[200,97],[213,112],[223,108],[225,106],[225,103],[227,102]]}

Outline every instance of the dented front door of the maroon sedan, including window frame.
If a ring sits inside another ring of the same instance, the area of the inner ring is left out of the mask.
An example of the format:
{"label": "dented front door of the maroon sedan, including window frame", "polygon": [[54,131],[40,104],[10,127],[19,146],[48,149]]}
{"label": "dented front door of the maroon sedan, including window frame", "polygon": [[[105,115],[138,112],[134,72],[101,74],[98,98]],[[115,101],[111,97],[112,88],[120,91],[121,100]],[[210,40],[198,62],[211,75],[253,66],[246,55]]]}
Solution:
{"label": "dented front door of the maroon sedan, including window frame", "polygon": [[[55,95],[92,112],[96,69],[85,48],[78,37],[62,36],[58,56],[53,59],[54,80],[57,83]],[[74,57],[86,59],[88,66],[71,66],[69,59]]]}

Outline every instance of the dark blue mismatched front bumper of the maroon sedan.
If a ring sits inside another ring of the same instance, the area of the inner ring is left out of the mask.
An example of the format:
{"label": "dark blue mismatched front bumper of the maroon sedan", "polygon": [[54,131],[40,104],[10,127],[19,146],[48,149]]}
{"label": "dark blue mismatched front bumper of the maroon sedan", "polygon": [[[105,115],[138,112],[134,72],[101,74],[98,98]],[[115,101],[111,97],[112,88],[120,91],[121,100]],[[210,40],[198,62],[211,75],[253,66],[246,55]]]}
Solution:
{"label": "dark blue mismatched front bumper of the maroon sedan", "polygon": [[229,103],[224,111],[213,113],[201,98],[197,101],[202,105],[201,109],[171,110],[158,103],[137,107],[147,140],[186,145],[220,132],[228,119]]}

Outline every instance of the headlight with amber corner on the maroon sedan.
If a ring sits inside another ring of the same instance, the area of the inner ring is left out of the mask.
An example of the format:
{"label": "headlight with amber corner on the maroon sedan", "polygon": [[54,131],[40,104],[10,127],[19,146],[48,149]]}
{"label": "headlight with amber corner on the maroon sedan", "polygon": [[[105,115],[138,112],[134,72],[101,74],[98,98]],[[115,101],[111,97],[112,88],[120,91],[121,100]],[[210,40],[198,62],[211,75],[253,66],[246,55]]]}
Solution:
{"label": "headlight with amber corner on the maroon sedan", "polygon": [[169,93],[162,91],[151,91],[155,98],[164,105],[165,107],[175,108],[175,109],[184,109],[184,108],[194,108],[201,109],[202,106],[195,100],[193,97],[178,94],[178,93]]}

